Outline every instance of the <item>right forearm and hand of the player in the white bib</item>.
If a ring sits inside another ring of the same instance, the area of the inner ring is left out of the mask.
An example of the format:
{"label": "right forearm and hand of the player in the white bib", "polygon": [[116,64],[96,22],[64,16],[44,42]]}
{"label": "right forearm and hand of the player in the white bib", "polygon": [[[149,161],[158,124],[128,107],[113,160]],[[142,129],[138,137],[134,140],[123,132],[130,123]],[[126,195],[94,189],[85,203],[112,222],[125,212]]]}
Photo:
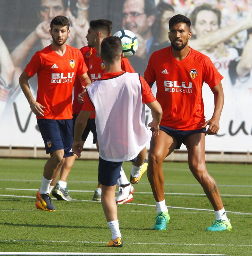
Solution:
{"label": "right forearm and hand of the player in the white bib", "polygon": [[148,127],[151,127],[152,136],[158,137],[159,124],[163,114],[162,108],[157,100],[151,103],[146,103],[146,105],[151,109],[152,115],[152,121],[148,124]]}

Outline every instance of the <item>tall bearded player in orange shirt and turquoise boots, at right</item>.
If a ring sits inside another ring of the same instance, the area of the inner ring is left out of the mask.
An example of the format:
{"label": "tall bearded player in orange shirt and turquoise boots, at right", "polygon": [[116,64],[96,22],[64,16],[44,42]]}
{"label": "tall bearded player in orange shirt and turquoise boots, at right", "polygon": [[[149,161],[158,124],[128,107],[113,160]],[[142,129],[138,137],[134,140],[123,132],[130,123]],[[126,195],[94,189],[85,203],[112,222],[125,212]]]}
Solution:
{"label": "tall bearded player in orange shirt and turquoise boots, at right", "polygon": [[[216,181],[209,175],[205,164],[205,135],[214,135],[219,130],[224,103],[223,77],[209,57],[189,47],[190,26],[187,17],[173,16],[169,21],[168,34],[171,46],[154,52],[144,72],[150,86],[156,81],[156,98],[163,109],[159,136],[151,138],[147,169],[158,212],[154,229],[166,230],[170,220],[164,199],[162,162],[183,143],[188,150],[189,168],[216,215],[216,221],[206,230],[231,230]],[[207,121],[201,91],[203,82],[214,94],[214,113]]]}

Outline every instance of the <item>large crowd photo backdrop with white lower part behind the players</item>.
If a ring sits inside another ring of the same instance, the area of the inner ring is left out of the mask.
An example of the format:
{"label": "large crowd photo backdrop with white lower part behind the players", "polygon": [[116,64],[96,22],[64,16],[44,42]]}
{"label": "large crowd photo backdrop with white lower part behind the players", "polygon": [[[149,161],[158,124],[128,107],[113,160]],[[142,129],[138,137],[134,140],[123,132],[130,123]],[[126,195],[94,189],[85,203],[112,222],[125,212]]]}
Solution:
{"label": "large crowd photo backdrop with white lower part behind the players", "polygon": [[[54,16],[69,18],[67,44],[79,49],[87,45],[90,20],[111,20],[112,34],[121,29],[131,30],[139,47],[129,61],[143,76],[151,54],[170,46],[168,21],[175,14],[191,19],[189,46],[209,56],[224,77],[225,103],[220,130],[217,135],[206,136],[206,151],[252,152],[252,2],[249,0],[1,0],[0,147],[44,146],[36,117],[20,89],[19,76],[33,54],[51,44],[49,29]],[[36,98],[36,75],[29,83]],[[156,93],[155,84],[152,91]],[[207,84],[203,84],[202,94],[208,120],[213,114],[214,98]],[[150,121],[146,107],[146,125]],[[92,133],[84,147],[95,148]]]}

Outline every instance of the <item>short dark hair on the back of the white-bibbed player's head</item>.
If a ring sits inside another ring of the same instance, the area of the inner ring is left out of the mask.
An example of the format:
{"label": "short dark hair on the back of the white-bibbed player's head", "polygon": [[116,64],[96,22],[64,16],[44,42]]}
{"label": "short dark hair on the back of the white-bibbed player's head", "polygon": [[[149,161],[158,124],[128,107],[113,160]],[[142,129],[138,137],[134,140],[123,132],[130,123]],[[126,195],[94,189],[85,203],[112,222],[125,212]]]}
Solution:
{"label": "short dark hair on the back of the white-bibbed player's head", "polygon": [[114,63],[115,60],[121,57],[123,46],[119,37],[106,37],[101,42],[102,59],[109,63]]}

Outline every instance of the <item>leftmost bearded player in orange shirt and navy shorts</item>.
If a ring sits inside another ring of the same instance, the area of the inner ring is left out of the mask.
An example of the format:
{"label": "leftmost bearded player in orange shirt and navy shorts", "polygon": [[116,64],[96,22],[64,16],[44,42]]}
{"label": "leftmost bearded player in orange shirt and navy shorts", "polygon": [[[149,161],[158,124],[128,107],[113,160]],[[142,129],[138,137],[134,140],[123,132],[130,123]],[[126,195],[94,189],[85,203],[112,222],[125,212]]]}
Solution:
{"label": "leftmost bearded player in orange shirt and navy shorts", "polygon": [[[69,20],[65,16],[53,18],[50,24],[53,43],[34,54],[19,78],[21,89],[36,114],[46,153],[50,153],[36,194],[36,208],[46,211],[55,211],[49,196],[53,176],[65,158],[73,155],[72,91],[75,76],[80,78],[83,86],[91,83],[80,50],[66,45],[69,33]],[[38,75],[36,101],[28,83],[35,73]]]}

